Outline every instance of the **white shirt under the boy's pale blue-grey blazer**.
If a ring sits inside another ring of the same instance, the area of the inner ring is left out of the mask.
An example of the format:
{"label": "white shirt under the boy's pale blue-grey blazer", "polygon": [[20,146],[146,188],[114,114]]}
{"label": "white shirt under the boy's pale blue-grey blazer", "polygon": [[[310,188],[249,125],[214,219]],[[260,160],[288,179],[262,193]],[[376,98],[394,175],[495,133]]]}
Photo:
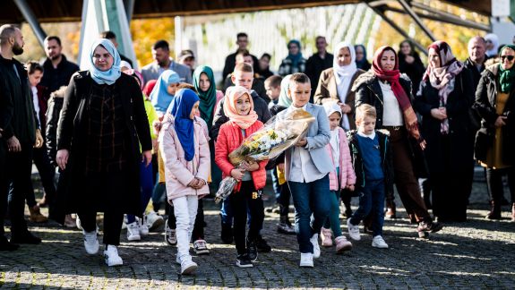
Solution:
{"label": "white shirt under the boy's pale blue-grey blazer", "polygon": [[[302,107],[302,109],[305,110],[305,107],[306,106]],[[288,107],[289,111],[296,109],[300,108],[296,108],[293,105]],[[291,170],[289,172],[288,181],[296,183],[311,183],[327,175],[318,171],[318,168],[316,168],[314,165],[313,160],[311,159],[311,155],[307,149],[298,146],[294,146],[293,151],[291,152],[290,168]]]}

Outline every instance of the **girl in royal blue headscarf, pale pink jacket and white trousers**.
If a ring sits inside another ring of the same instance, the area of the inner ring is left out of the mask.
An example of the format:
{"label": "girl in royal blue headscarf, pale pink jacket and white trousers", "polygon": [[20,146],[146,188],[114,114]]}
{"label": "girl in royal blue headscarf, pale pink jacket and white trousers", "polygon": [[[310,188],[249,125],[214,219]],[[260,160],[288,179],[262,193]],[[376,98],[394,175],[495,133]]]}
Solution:
{"label": "girl in royal blue headscarf, pale pink jacket and white trousers", "polygon": [[181,274],[197,269],[190,255],[190,240],[198,200],[209,194],[210,148],[201,124],[196,121],[199,97],[193,90],[179,90],[170,115],[159,132],[159,153],[165,164],[167,200],[176,216],[177,258]]}

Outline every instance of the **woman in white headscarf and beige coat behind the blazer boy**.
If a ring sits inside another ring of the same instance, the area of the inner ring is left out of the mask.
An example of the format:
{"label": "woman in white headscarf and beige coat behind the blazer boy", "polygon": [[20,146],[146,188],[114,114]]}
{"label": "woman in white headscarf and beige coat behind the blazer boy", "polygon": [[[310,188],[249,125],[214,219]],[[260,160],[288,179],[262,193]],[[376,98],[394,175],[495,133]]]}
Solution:
{"label": "woman in white headscarf and beige coat behind the blazer boy", "polygon": [[354,99],[355,92],[351,91],[357,77],[365,73],[356,67],[356,52],[348,42],[340,42],[334,47],[332,67],[323,71],[314,93],[315,104],[322,105],[328,101],[338,101],[343,117],[341,126],[346,131],[355,129]]}

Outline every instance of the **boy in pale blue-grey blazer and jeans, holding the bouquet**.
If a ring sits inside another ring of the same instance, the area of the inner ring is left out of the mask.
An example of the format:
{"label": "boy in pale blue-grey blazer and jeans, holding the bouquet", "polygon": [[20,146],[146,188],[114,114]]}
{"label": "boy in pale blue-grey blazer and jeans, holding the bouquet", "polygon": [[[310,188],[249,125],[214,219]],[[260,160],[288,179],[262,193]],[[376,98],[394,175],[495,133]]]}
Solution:
{"label": "boy in pale blue-grey blazer and jeans, holding the bouquet", "polygon": [[318,234],[330,212],[328,174],[333,169],[325,149],[330,141],[329,121],[322,106],[309,103],[311,82],[304,73],[291,75],[288,96],[292,104],[278,114],[279,119],[299,109],[316,119],[309,125],[306,136],[286,150],[285,155],[286,180],[296,209],[300,267],[313,267],[313,258],[320,257]]}

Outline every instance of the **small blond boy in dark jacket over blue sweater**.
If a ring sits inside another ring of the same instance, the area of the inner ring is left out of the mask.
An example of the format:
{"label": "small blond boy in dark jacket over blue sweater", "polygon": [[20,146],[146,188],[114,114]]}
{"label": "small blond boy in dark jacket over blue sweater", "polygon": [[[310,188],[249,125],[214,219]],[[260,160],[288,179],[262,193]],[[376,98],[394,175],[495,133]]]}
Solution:
{"label": "small blond boy in dark jacket over blue sweater", "polygon": [[357,131],[348,132],[352,164],[356,170],[356,191],[359,208],[347,220],[348,235],[359,241],[359,223],[372,214],[374,248],[388,248],[382,238],[384,223],[384,192],[393,191],[390,139],[387,133],[375,130],[375,107],[361,105],[356,108]]}

